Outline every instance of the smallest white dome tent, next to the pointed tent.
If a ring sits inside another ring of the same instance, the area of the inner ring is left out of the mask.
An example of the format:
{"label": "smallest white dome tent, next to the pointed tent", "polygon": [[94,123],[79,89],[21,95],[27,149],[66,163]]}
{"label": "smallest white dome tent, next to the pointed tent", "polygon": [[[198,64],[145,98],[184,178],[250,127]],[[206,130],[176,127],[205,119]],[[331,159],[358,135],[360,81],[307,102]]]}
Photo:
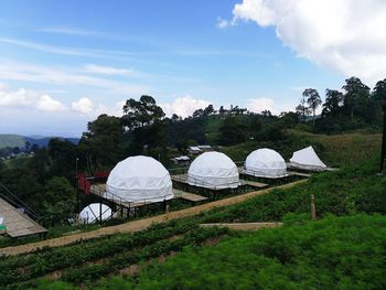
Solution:
{"label": "smallest white dome tent, next to the pointed tent", "polygon": [[262,148],[253,151],[245,160],[245,173],[258,178],[287,176],[285,159],[275,150]]}

